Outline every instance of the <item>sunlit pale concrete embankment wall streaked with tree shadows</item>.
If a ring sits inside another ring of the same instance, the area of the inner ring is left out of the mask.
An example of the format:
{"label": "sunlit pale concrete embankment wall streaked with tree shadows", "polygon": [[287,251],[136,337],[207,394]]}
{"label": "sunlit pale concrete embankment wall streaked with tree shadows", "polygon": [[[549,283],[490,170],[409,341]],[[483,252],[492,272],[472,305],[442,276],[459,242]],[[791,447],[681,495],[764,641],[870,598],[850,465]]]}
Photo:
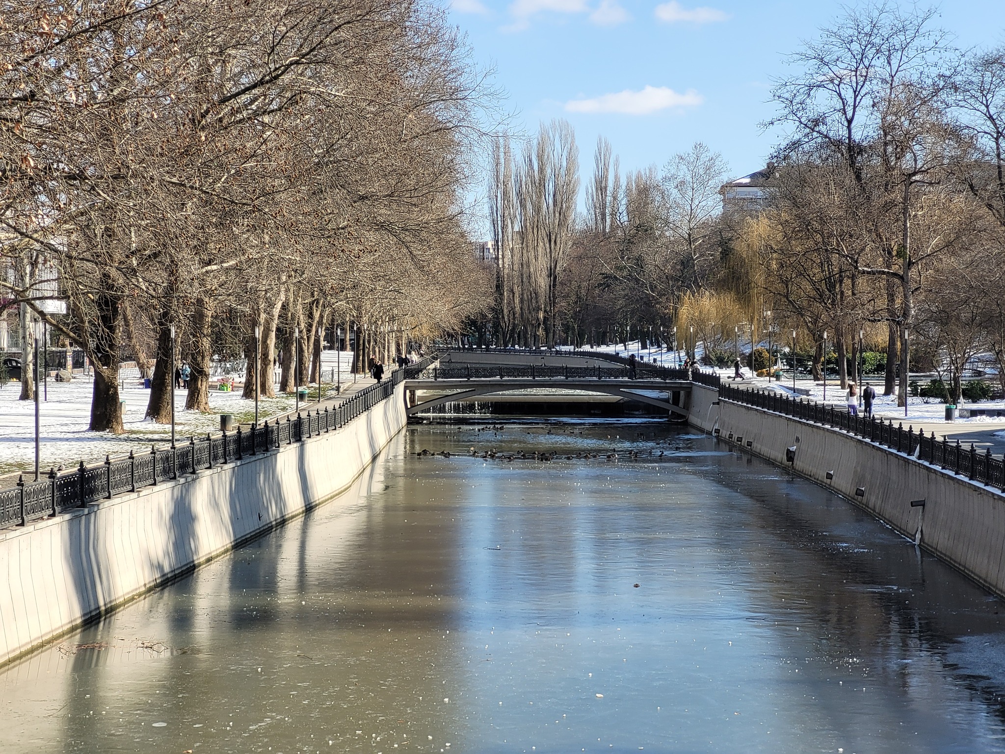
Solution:
{"label": "sunlit pale concrete embankment wall streaked with tree shadows", "polygon": [[0,532],[0,663],[334,498],[406,421],[399,385],[341,429]]}

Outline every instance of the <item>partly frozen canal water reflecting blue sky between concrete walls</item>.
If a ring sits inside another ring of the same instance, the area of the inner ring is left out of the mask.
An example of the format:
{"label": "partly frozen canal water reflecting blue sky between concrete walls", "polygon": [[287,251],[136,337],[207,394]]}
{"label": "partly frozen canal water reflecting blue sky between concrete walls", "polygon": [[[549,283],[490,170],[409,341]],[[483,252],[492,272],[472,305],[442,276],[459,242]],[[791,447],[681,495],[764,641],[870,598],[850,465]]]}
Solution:
{"label": "partly frozen canal water reflecting blue sky between concrete walls", "polygon": [[343,498],[0,672],[0,745],[1002,751],[1001,608],[664,423],[411,427]]}

